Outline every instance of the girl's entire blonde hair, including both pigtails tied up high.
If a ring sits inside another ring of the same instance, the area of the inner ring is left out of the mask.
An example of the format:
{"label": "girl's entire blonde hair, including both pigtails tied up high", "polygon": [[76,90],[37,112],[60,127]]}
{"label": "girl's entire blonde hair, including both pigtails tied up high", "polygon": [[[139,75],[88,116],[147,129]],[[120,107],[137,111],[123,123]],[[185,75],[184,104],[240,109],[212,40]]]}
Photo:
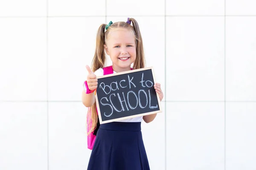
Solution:
{"label": "girl's entire blonde hair, including both pigtails tied up high", "polygon": [[[125,22],[116,22],[113,23],[111,26],[108,27],[107,31],[105,31],[106,24],[102,24],[97,32],[96,36],[96,50],[92,61],[92,71],[96,71],[99,68],[103,68],[106,61],[105,56],[105,49],[104,45],[107,42],[108,35],[111,31],[115,31],[118,29],[126,29],[131,31],[135,36],[135,43],[136,43],[136,59],[133,65],[133,69],[144,68],[145,67],[145,56],[144,56],[144,49],[143,49],[143,41],[140,34],[140,28],[137,21],[134,18],[130,18],[132,26]],[[96,102],[88,108],[88,111],[91,112],[91,121],[87,121],[87,127],[89,126],[90,129],[88,133],[93,132],[96,129],[97,122],[98,122],[98,114],[96,110]],[[88,118],[88,117],[87,117]]]}

